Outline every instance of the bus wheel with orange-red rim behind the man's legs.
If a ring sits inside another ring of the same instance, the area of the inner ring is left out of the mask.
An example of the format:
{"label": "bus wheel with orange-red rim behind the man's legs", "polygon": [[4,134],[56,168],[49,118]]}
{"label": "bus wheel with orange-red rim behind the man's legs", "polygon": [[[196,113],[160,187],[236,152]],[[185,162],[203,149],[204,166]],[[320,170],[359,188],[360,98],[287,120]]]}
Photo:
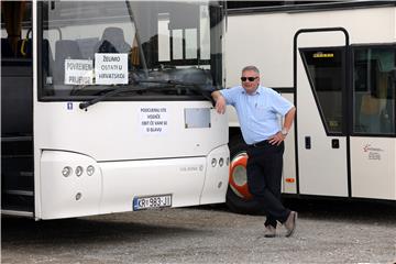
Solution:
{"label": "bus wheel with orange-red rim behind the man's legs", "polygon": [[226,204],[231,211],[239,213],[262,213],[258,205],[253,201],[248,188],[246,144],[241,138],[230,141],[230,176]]}

